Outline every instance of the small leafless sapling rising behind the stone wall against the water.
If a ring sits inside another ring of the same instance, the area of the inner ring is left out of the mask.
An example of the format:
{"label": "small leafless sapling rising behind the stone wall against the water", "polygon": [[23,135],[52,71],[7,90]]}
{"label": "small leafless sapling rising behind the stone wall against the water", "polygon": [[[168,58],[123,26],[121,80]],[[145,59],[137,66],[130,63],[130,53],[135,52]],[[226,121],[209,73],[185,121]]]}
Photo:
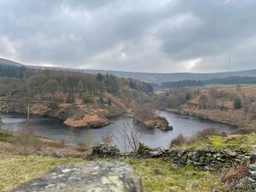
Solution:
{"label": "small leafless sapling rising behind the stone wall against the water", "polygon": [[129,151],[130,149],[137,151],[139,142],[142,139],[142,132],[139,131],[137,123],[135,123],[133,120],[124,121],[123,125],[119,129],[119,133],[125,152]]}

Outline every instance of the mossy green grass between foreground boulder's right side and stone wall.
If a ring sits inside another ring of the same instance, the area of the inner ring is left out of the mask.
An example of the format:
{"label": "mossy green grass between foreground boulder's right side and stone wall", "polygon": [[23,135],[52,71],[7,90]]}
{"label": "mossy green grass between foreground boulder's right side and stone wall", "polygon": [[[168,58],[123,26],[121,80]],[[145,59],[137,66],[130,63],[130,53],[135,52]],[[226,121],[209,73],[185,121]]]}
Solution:
{"label": "mossy green grass between foreground boulder's right side and stone wall", "polygon": [[123,159],[122,161],[131,164],[143,177],[146,192],[209,191],[213,187],[220,186],[216,172],[203,172],[193,166],[174,169],[169,161],[160,159]]}

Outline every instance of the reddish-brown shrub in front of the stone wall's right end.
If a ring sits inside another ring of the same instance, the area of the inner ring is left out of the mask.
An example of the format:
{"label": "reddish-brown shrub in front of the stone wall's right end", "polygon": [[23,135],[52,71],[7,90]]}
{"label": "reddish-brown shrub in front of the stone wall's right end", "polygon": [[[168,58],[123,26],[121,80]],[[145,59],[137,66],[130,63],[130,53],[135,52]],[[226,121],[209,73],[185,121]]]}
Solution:
{"label": "reddish-brown shrub in front of the stone wall's right end", "polygon": [[247,177],[248,175],[248,163],[237,164],[224,169],[220,174],[219,180],[222,183],[237,183],[241,178]]}

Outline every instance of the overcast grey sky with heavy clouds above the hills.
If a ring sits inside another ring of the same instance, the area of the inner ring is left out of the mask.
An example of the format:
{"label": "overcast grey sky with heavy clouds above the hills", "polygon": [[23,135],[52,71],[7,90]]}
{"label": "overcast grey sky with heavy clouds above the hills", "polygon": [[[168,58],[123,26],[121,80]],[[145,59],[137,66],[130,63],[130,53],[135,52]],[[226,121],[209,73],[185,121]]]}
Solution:
{"label": "overcast grey sky with heavy clouds above the hills", "polygon": [[0,0],[0,57],[133,72],[252,69],[255,10],[255,0]]}

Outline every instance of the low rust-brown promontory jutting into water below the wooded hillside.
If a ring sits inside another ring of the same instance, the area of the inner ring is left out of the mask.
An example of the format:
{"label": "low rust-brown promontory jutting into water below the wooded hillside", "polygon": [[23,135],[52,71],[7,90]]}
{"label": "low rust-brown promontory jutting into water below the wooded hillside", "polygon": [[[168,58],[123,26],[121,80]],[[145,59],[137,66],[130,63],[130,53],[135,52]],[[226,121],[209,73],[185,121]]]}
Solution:
{"label": "low rust-brown promontory jutting into water below the wooded hillside", "polygon": [[103,127],[109,125],[109,120],[96,114],[85,114],[81,118],[70,117],[64,121],[65,125],[72,127]]}

